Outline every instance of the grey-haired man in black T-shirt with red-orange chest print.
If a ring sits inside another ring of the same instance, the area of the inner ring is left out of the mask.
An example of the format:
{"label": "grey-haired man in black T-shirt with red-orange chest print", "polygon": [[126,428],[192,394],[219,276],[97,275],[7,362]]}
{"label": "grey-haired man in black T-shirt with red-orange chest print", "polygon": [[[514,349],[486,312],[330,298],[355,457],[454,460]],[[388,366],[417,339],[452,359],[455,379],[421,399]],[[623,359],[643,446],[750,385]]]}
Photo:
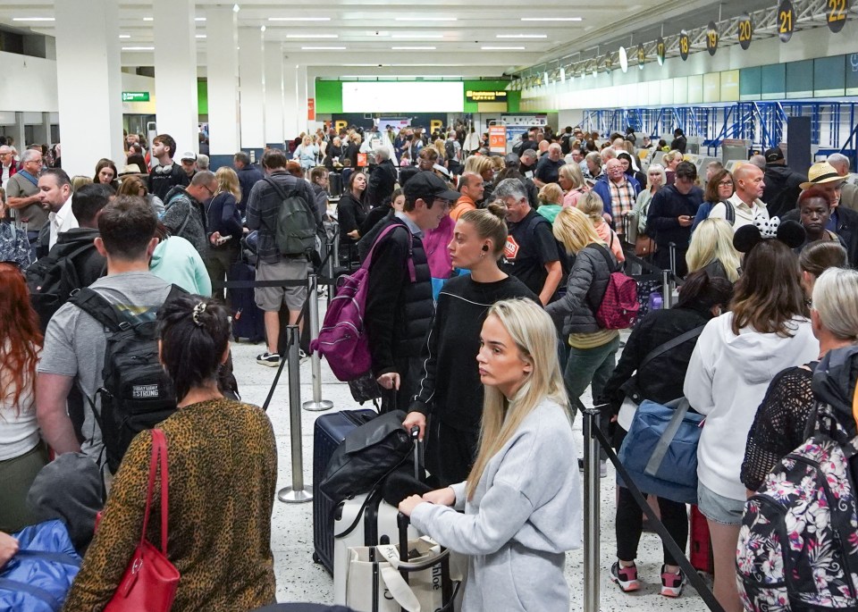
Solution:
{"label": "grey-haired man in black T-shirt with red-orange chest print", "polygon": [[560,258],[566,256],[551,233],[551,222],[531,207],[521,180],[501,180],[492,198],[507,207],[509,235],[501,269],[525,283],[545,306],[555,298],[563,277]]}

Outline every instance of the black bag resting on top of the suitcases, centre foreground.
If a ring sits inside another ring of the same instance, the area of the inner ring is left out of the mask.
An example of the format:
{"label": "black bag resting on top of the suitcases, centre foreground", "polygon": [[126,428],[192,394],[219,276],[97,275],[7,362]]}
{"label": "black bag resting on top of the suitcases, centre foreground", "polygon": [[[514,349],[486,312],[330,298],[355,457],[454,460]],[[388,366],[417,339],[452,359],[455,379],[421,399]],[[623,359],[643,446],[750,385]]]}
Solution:
{"label": "black bag resting on top of the suitcases, centre foreground", "polygon": [[394,410],[375,417],[346,434],[319,483],[334,505],[367,493],[403,465],[414,445],[402,427],[405,413]]}

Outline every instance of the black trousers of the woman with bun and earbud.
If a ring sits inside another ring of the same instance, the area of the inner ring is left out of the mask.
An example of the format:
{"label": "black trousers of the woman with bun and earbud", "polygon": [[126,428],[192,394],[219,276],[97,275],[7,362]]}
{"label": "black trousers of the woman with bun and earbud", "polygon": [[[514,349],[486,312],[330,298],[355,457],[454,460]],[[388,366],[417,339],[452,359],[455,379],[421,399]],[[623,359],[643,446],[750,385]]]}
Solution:
{"label": "black trousers of the woman with bun and earbud", "polygon": [[426,469],[447,487],[467,480],[474,465],[479,432],[466,432],[430,418],[426,438]]}

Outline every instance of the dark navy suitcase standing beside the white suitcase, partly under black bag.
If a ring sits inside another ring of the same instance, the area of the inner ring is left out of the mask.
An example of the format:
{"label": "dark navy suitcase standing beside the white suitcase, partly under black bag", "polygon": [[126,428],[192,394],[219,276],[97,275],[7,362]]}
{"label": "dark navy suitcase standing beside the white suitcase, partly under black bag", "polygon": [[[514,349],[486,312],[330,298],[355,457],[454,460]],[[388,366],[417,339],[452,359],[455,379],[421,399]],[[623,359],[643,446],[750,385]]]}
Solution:
{"label": "dark navy suitcase standing beside the white suitcase, partly under black bag", "polygon": [[358,425],[368,423],[378,414],[374,410],[344,410],[322,415],[313,427],[313,560],[333,574],[334,504],[319,490],[333,451],[346,434]]}

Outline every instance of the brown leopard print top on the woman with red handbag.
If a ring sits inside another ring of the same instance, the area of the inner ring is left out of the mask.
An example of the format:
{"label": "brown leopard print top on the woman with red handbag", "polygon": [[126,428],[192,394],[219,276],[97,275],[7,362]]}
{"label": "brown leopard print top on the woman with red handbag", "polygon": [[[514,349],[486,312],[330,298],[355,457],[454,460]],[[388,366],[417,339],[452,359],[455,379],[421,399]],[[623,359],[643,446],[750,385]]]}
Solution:
{"label": "brown leopard print top on the woman with red handbag", "polygon": [[[161,423],[170,484],[167,557],[181,574],[173,612],[244,612],[274,601],[271,513],[277,449],[258,407],[221,398],[182,407]],[[140,539],[152,435],[122,459],[105,513],[65,612],[97,612],[113,597]],[[147,540],[161,541],[156,484]]]}

